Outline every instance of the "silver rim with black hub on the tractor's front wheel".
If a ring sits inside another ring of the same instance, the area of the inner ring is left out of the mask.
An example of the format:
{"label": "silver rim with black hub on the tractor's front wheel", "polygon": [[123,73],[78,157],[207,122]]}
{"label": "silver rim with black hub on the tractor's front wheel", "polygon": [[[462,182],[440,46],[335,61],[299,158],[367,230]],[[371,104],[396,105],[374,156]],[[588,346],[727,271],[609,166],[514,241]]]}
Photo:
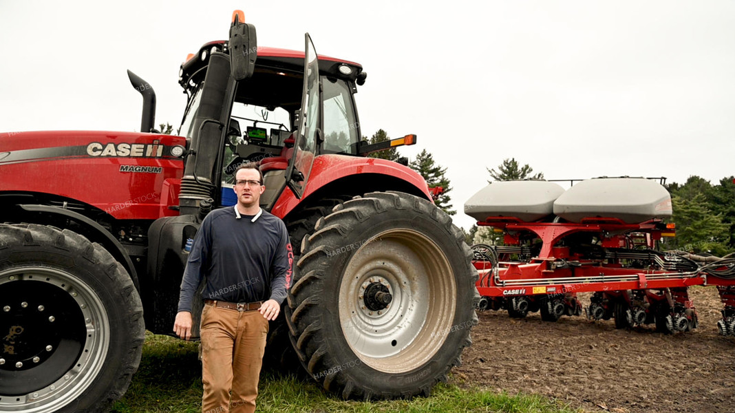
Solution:
{"label": "silver rim with black hub on the tractor's front wheel", "polygon": [[[104,364],[104,305],[84,281],[51,267],[2,271],[0,285],[0,312],[12,316],[0,323],[0,369],[10,377],[0,384],[0,410],[55,412],[90,387]],[[32,384],[19,385],[20,378]]]}

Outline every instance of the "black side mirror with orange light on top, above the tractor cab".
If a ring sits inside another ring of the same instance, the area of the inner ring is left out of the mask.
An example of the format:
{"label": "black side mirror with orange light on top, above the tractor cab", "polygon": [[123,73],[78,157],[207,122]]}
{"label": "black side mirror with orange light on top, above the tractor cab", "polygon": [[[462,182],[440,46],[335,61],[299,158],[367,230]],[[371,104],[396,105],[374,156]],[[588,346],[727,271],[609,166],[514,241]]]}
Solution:
{"label": "black side mirror with orange light on top, above the tractor cab", "polygon": [[245,13],[242,10],[232,12],[228,47],[232,77],[235,80],[243,80],[253,76],[255,60],[258,56],[258,44],[255,26],[245,23]]}

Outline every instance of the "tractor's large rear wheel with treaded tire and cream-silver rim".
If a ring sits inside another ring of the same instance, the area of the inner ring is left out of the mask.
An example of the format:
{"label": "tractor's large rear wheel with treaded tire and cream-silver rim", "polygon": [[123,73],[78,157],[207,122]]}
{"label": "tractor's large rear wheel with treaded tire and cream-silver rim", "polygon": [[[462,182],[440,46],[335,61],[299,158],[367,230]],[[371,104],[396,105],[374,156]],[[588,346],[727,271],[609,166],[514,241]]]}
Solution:
{"label": "tractor's large rear wheel with treaded tire and cream-silver rim", "polygon": [[406,193],[334,206],[304,238],[286,320],[310,376],[343,398],[429,395],[470,345],[472,251],[441,209]]}

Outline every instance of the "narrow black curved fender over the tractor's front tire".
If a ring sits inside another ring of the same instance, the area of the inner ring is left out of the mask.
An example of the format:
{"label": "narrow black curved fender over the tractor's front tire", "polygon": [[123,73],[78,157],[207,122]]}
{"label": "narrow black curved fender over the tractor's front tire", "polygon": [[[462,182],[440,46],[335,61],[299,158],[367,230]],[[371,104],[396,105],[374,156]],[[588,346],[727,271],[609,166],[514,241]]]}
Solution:
{"label": "narrow black curved fender over the tractor's front tire", "polygon": [[125,267],[125,270],[130,274],[133,284],[135,284],[135,289],[140,293],[140,284],[138,283],[137,272],[135,271],[135,265],[133,265],[132,259],[130,259],[130,256],[127,251],[125,251],[123,245],[116,240],[112,234],[110,234],[110,231],[104,229],[103,226],[79,212],[62,209],[58,206],[32,204],[21,204],[18,206],[28,212],[60,215],[63,218],[74,220],[76,223],[79,223],[79,225],[85,226],[87,231],[89,231],[85,236],[90,233],[94,234],[94,239],[91,239],[90,241],[100,243],[108,252],[110,252],[110,254],[112,254],[113,257],[115,257],[116,260],[118,260],[118,262],[123,265],[123,267]]}

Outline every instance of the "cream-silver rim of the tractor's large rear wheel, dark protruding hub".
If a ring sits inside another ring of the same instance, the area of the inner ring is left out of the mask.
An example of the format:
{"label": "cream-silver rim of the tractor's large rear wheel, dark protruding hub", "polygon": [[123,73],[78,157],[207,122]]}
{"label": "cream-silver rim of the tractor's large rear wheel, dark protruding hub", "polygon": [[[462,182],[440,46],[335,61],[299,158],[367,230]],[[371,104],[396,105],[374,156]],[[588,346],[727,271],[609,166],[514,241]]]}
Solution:
{"label": "cream-silver rim of the tractor's large rear wheel, dark protruding hub", "polygon": [[[382,309],[374,295],[366,295],[386,290],[392,300]],[[436,243],[410,229],[384,231],[363,243],[340,284],[345,340],[363,363],[385,373],[422,367],[453,329],[467,328],[452,326],[455,310],[448,259]]]}

